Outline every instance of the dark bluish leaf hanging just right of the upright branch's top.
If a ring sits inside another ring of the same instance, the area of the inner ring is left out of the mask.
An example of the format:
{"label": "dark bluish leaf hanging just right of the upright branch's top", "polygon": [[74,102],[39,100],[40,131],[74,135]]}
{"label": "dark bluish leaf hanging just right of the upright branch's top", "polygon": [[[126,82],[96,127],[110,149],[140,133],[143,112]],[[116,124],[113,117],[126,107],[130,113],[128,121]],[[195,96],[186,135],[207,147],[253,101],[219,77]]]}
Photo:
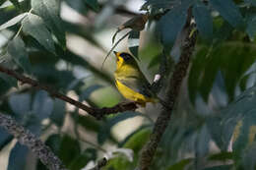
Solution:
{"label": "dark bluish leaf hanging just right of the upright branch's top", "polygon": [[213,38],[213,19],[208,8],[199,2],[193,7],[193,16],[196,26],[203,38],[211,40]]}

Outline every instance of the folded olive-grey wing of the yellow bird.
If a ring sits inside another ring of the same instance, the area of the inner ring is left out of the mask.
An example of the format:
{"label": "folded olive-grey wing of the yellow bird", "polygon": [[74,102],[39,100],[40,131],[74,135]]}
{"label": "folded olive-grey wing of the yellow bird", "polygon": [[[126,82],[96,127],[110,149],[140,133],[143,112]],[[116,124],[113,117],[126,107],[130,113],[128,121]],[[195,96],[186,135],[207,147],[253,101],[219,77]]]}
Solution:
{"label": "folded olive-grey wing of the yellow bird", "polygon": [[132,90],[139,92],[147,97],[153,97],[154,94],[150,89],[150,83],[143,76],[129,76],[117,79],[121,84],[128,86]]}

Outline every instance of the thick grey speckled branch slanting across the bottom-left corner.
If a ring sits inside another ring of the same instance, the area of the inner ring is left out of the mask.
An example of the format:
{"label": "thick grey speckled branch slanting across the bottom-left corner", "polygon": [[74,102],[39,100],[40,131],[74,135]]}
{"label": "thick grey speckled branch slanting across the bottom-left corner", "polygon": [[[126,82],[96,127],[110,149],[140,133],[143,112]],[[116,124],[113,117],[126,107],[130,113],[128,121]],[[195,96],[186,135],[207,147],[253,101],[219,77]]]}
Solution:
{"label": "thick grey speckled branch slanting across the bottom-left corner", "polygon": [[31,132],[24,129],[13,118],[0,113],[0,126],[13,135],[24,145],[27,145],[40,161],[50,170],[67,170],[51,149],[32,135]]}

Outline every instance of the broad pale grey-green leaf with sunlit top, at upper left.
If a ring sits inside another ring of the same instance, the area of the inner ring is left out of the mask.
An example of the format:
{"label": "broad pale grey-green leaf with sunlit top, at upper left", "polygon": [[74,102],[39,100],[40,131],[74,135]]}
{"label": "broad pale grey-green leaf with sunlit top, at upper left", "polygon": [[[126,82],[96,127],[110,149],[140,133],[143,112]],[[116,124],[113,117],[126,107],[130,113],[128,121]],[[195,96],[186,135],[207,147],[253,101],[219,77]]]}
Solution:
{"label": "broad pale grey-green leaf with sunlit top, at upper left", "polygon": [[40,17],[30,14],[23,20],[22,25],[25,33],[32,35],[46,50],[55,53],[51,34]]}

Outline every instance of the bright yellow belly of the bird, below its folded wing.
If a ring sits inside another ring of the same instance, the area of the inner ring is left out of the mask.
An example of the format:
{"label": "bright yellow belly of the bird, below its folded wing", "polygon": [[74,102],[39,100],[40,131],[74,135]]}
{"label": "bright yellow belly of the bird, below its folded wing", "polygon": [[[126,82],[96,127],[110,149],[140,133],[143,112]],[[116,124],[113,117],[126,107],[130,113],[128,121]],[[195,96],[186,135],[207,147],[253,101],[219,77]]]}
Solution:
{"label": "bright yellow belly of the bird, below its folded wing", "polygon": [[133,89],[129,88],[126,85],[123,85],[119,81],[115,81],[115,85],[117,86],[118,90],[121,92],[121,94],[130,100],[133,100],[135,102],[138,102],[142,106],[146,105],[146,102],[155,102],[153,98],[146,97],[145,95],[134,91]]}

